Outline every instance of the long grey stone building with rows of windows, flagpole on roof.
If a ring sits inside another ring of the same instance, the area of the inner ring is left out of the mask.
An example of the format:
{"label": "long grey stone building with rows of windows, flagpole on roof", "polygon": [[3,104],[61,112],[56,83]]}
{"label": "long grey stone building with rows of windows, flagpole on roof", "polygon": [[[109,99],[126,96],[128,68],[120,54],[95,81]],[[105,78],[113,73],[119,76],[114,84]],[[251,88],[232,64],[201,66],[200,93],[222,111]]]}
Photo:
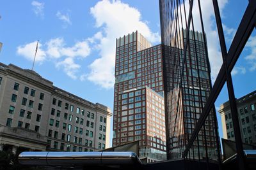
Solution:
{"label": "long grey stone building with rows of windows, flagpole on roof", "polygon": [[108,107],[54,87],[35,71],[0,64],[1,145],[13,150],[102,150],[109,147],[111,115]]}

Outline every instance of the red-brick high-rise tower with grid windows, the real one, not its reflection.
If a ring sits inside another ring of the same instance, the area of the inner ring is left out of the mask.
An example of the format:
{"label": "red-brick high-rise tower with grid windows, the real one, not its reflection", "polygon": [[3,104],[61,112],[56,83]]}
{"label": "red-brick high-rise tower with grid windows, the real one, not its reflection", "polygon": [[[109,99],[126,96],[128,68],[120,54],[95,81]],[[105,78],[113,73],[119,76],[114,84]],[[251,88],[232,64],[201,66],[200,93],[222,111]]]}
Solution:
{"label": "red-brick high-rise tower with grid windows, the real one, not its reflection", "polygon": [[113,146],[139,140],[140,158],[166,159],[161,45],[138,31],[116,39]]}

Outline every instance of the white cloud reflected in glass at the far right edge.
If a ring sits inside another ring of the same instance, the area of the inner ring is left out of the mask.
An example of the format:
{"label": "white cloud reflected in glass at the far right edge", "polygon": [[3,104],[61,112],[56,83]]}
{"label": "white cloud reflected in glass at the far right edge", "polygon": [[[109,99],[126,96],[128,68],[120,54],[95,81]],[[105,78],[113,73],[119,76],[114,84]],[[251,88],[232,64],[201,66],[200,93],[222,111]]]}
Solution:
{"label": "white cloud reflected in glass at the far right edge", "polygon": [[250,49],[250,54],[245,57],[251,64],[250,71],[256,70],[256,36],[250,36],[246,47]]}

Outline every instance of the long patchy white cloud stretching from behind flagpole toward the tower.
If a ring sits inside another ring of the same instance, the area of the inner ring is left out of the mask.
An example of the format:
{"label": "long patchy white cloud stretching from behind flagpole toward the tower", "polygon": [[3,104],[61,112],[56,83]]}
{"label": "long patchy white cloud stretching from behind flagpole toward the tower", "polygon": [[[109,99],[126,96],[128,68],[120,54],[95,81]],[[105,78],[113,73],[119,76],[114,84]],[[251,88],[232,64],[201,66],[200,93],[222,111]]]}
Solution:
{"label": "long patchy white cloud stretching from behind flagpole toward the tower", "polygon": [[[36,41],[18,46],[17,54],[33,61],[35,48]],[[66,46],[63,38],[54,38],[44,43],[44,45],[38,43],[36,63],[51,60],[57,68],[63,69],[70,78],[77,79],[80,78],[79,74],[81,74],[81,64],[77,64],[77,62],[90,55],[90,51],[90,46],[86,40],[77,41],[73,46]]]}

